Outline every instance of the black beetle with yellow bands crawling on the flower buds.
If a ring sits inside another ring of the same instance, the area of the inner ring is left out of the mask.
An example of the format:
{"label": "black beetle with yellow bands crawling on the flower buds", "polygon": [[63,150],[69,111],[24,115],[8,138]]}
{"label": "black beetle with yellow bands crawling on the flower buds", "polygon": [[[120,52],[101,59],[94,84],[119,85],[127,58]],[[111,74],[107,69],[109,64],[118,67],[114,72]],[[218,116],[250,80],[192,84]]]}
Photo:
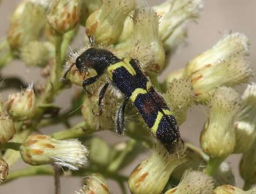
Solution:
{"label": "black beetle with yellow bands crawling on the flower buds", "polygon": [[[116,114],[117,133],[122,134],[124,131],[125,106],[130,100],[137,107],[152,134],[171,153],[173,145],[182,141],[177,121],[164,98],[154,89],[151,81],[143,73],[139,61],[130,57],[119,59],[112,52],[93,46],[92,36],[90,43],[91,47],[80,54],[73,65],[76,65],[81,73],[85,73],[89,68],[97,72],[94,77],[83,81],[85,90],[86,86],[96,82],[104,73],[107,74],[109,81],[99,92],[99,113],[102,112],[104,94],[112,84],[124,96],[124,101]],[[64,73],[62,81],[65,80],[69,70]]]}

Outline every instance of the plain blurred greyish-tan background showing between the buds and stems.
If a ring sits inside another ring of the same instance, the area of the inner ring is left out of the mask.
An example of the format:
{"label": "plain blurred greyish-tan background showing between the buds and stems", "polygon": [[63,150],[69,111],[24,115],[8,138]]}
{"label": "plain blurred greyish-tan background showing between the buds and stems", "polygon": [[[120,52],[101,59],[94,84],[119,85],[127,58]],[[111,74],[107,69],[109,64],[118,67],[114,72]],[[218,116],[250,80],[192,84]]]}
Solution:
{"label": "plain blurred greyish-tan background showing between the buds and stems", "polygon": [[[0,38],[5,36],[5,33],[9,25],[9,16],[15,9],[18,0],[6,1],[3,0],[0,5]],[[159,4],[161,1],[158,0],[147,0],[150,5]],[[186,63],[196,56],[197,54],[210,49],[225,33],[232,32],[242,32],[250,39],[251,43],[251,56],[250,61],[252,67],[255,71],[256,63],[256,1],[255,0],[204,0],[204,10],[198,19],[198,23],[188,24],[188,38],[186,44],[180,47],[180,49],[174,54],[171,59],[170,66],[161,75],[160,79],[163,79],[168,73],[178,68],[184,67]],[[84,30],[84,29],[83,29]],[[81,31],[80,38],[83,39]],[[80,46],[79,37],[76,38],[75,42],[71,45],[73,49]],[[42,81],[40,78],[40,70],[37,68],[28,68],[23,63],[18,61],[12,61],[4,70],[1,72],[3,77],[16,75],[22,78],[26,82],[38,82]],[[256,81],[256,78],[252,78],[251,81]],[[245,85],[237,87],[238,91],[241,93],[245,88]],[[3,99],[6,99],[8,94],[14,91],[6,91],[3,94]],[[65,107],[70,100],[70,91],[63,92],[62,95],[58,96],[56,103]],[[73,120],[73,124],[77,123],[80,118]],[[181,136],[185,138],[186,141],[193,143],[194,145],[199,145],[199,134],[206,120],[206,112],[202,107],[193,107],[188,113],[187,121],[181,126]],[[54,129],[47,128],[43,132],[45,134],[50,133],[52,130],[62,130],[63,126],[55,126]],[[107,142],[113,144],[115,142],[123,141],[122,137],[117,137],[111,133],[111,131],[102,131],[97,133],[98,136],[103,137]],[[125,138],[125,137],[124,137]],[[149,153],[141,155],[136,158],[136,161],[132,163],[129,167],[122,170],[123,174],[129,175],[136,167],[136,165],[144,160]],[[239,176],[238,164],[240,160],[240,155],[231,155],[227,158],[227,162],[230,163],[233,168],[233,172],[237,177],[237,185],[242,186],[243,182]],[[19,162],[14,165],[10,170],[20,169],[26,167],[27,164],[24,162]],[[109,181],[110,189],[113,194],[121,193],[118,185],[113,181]],[[16,194],[16,193],[53,193],[53,177],[51,176],[37,176],[17,179],[10,183],[0,186],[1,194]],[[81,186],[80,178],[61,178],[62,193],[71,194],[78,191]]]}

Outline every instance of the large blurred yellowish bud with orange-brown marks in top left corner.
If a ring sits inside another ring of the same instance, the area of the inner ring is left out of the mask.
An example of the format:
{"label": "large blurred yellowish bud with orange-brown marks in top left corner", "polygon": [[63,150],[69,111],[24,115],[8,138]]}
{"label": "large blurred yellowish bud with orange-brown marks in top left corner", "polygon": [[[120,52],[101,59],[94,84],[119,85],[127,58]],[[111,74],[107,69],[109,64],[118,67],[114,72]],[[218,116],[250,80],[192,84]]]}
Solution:
{"label": "large blurred yellowish bud with orange-brown marks in top left corner", "polygon": [[[38,1],[39,2],[39,1]],[[40,1],[41,2],[41,1]],[[7,39],[11,49],[19,50],[41,37],[46,25],[46,4],[22,1],[11,16]]]}

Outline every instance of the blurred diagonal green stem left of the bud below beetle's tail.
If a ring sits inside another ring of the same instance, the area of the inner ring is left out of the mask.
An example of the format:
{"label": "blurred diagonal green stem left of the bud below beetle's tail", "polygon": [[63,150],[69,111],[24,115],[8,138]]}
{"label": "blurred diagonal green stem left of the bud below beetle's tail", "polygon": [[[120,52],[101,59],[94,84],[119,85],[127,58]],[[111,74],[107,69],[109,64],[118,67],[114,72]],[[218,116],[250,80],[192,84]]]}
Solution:
{"label": "blurred diagonal green stem left of the bud below beetle's tail", "polygon": [[136,141],[130,139],[126,144],[126,148],[118,155],[118,157],[113,162],[111,162],[107,170],[110,172],[116,172],[125,160],[126,156],[129,155],[129,153],[131,153],[135,145]]}

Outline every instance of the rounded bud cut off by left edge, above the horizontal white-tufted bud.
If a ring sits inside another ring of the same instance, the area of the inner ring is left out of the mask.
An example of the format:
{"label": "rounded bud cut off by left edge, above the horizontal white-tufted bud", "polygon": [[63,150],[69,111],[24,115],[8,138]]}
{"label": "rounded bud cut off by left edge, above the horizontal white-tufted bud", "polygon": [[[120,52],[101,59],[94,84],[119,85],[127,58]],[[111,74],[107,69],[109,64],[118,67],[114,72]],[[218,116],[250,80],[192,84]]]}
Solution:
{"label": "rounded bud cut off by left edge, above the horizontal white-tufted bud", "polygon": [[0,144],[6,143],[15,134],[14,122],[5,112],[0,113]]}

